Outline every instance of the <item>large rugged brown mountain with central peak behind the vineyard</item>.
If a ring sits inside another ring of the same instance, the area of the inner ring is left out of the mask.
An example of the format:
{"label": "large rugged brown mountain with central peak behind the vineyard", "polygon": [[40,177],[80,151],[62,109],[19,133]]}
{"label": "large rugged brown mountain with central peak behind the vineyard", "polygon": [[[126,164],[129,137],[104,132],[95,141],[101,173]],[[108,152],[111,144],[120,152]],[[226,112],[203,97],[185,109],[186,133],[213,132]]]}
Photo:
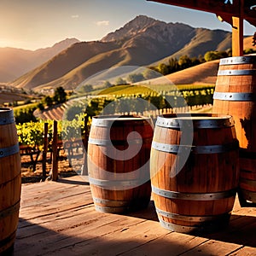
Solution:
{"label": "large rugged brown mountain with central peak behind the vineyard", "polygon": [[84,79],[111,67],[147,67],[166,57],[197,57],[209,50],[229,49],[230,44],[230,32],[139,15],[100,41],[73,44],[11,84],[35,90],[74,89]]}

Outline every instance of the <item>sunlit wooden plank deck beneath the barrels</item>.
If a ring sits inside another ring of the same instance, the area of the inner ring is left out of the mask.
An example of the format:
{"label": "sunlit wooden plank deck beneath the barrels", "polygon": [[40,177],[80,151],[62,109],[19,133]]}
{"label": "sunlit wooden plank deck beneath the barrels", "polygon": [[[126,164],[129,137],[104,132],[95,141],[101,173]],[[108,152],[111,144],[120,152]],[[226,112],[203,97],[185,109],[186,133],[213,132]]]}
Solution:
{"label": "sunlit wooden plank deck beneath the barrels", "polygon": [[15,256],[256,255],[256,208],[236,200],[229,228],[190,236],[162,228],[151,201],[146,210],[96,212],[81,177],[22,184]]}

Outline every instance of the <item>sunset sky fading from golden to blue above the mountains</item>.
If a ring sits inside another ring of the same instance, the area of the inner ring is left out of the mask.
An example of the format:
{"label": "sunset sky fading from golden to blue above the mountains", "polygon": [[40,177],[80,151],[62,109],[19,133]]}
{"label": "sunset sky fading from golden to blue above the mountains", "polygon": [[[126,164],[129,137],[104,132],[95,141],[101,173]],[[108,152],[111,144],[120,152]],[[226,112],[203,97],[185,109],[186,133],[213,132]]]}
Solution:
{"label": "sunset sky fading from golden to blue above the mountains", "polygon": [[[214,14],[146,0],[0,0],[0,5],[0,47],[34,50],[65,38],[100,40],[137,15],[231,32]],[[244,21],[244,34],[254,32]]]}

